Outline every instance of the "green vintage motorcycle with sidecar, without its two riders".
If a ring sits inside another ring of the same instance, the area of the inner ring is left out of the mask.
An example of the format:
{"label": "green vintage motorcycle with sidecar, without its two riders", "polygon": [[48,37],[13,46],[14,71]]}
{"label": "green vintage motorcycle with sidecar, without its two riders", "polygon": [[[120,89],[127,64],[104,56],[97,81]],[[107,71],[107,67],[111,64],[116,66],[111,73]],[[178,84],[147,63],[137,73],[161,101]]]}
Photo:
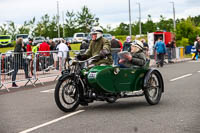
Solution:
{"label": "green vintage motorcycle with sidecar, without its two riders", "polygon": [[164,92],[161,73],[150,68],[148,60],[143,67],[94,66],[88,68],[91,57],[85,61],[72,61],[62,72],[54,92],[58,108],[74,111],[80,104],[94,101],[114,103],[119,98],[145,96],[150,105],[158,104]]}

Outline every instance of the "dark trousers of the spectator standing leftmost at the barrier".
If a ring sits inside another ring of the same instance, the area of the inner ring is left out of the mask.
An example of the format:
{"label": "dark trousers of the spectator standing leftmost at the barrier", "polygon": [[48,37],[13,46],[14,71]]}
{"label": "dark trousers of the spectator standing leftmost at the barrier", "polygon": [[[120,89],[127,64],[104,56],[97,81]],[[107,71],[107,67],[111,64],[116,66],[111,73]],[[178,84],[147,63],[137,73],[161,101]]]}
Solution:
{"label": "dark trousers of the spectator standing leftmost at the barrier", "polygon": [[[20,64],[21,63],[19,63],[19,62],[14,62],[14,72],[13,72],[13,75],[12,75],[12,82],[13,83],[16,80],[16,76],[17,76],[17,72],[19,70]],[[24,72],[25,72],[25,77],[27,78],[28,77],[28,64],[25,61],[23,61],[22,64],[23,64],[23,68],[24,68]]]}

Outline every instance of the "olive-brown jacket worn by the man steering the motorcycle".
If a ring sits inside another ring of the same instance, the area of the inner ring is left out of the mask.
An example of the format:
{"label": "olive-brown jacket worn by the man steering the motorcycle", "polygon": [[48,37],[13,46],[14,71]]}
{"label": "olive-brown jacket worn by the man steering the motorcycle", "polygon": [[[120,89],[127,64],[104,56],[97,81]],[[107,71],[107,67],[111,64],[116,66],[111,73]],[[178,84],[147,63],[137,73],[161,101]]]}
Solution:
{"label": "olive-brown jacket worn by the man steering the motorcycle", "polygon": [[[85,55],[87,55],[87,58],[98,55],[102,49],[107,49],[109,52],[111,52],[111,43],[103,37],[95,41],[92,40]],[[100,64],[112,65],[112,63],[113,60],[111,54],[109,54],[106,58],[92,62],[92,64],[95,65],[100,65]]]}

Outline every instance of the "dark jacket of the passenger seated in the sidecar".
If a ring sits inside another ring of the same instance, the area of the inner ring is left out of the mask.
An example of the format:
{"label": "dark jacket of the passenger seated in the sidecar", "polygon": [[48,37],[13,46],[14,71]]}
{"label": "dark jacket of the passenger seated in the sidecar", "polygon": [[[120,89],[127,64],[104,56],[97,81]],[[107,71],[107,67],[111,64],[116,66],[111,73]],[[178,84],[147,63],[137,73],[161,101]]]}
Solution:
{"label": "dark jacket of the passenger seated in the sidecar", "polygon": [[133,65],[137,66],[144,66],[146,63],[146,56],[143,51],[138,51],[136,53],[131,53],[132,55],[132,60],[131,61],[126,61],[124,65],[126,67],[131,67]]}

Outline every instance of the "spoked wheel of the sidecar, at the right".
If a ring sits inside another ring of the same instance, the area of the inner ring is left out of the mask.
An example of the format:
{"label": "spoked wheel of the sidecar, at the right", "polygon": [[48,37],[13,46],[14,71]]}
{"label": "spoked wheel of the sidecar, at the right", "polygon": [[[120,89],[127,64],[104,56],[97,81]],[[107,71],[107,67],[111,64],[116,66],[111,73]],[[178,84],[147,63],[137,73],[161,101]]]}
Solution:
{"label": "spoked wheel of the sidecar, at the right", "polygon": [[153,71],[147,82],[147,87],[144,90],[145,98],[151,105],[158,104],[162,96],[163,81],[157,71]]}

